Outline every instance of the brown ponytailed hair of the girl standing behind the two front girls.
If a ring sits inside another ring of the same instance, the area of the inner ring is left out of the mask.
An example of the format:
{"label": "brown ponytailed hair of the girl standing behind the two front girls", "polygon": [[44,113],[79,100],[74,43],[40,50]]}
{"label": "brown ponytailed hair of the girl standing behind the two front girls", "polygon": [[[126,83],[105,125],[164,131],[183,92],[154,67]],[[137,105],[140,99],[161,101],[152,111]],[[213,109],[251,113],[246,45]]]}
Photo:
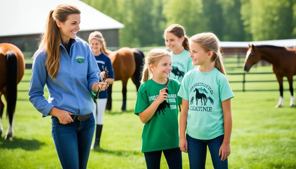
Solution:
{"label": "brown ponytailed hair of the girl standing behind the two front girls", "polygon": [[168,28],[166,28],[165,32],[170,32],[170,33],[174,34],[175,36],[177,36],[178,38],[184,37],[184,41],[182,43],[182,46],[184,47],[184,49],[186,49],[187,51],[190,52],[189,38],[187,37],[183,26],[181,26],[179,24],[173,24],[173,25],[170,25]]}

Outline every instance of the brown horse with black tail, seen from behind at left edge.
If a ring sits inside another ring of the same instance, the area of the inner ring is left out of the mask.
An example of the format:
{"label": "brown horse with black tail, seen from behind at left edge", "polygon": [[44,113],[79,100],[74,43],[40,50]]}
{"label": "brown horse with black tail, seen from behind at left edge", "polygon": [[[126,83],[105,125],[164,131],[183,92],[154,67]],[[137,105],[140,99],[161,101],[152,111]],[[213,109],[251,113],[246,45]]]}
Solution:
{"label": "brown horse with black tail, seen from behind at left edge", "polygon": [[5,140],[12,141],[17,84],[21,81],[24,72],[25,59],[20,49],[10,43],[0,43],[0,136],[3,132],[1,123],[4,109],[4,103],[1,100],[2,94],[7,102],[6,115],[9,118]]}

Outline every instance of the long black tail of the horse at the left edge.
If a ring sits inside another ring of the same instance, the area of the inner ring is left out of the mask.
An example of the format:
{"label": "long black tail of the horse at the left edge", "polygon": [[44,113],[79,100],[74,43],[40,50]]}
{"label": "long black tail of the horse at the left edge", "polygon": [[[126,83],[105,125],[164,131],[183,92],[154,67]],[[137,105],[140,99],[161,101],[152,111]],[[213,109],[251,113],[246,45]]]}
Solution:
{"label": "long black tail of the horse at the left edge", "polygon": [[17,101],[17,56],[12,51],[6,52],[6,92],[7,92],[7,116],[9,124],[15,112]]}

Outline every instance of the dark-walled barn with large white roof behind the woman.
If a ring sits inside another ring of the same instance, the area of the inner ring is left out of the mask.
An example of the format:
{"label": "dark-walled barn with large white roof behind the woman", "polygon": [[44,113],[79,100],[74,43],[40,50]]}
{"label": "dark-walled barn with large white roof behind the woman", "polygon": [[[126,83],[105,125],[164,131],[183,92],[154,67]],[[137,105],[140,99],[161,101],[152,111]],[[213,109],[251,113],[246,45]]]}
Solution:
{"label": "dark-walled barn with large white roof behind the woman", "polygon": [[107,47],[118,48],[118,31],[124,25],[80,0],[8,0],[0,2],[0,43],[12,43],[22,51],[34,52],[44,31],[50,10],[71,4],[81,11],[77,36],[88,39],[90,32],[102,32]]}

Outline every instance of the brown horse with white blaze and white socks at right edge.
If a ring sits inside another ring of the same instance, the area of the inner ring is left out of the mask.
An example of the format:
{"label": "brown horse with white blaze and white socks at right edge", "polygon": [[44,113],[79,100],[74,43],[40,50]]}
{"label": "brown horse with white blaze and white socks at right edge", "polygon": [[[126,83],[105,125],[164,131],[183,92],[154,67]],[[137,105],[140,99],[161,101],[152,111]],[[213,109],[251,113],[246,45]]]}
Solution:
{"label": "brown horse with white blaze and white socks at right edge", "polygon": [[294,50],[287,50],[285,47],[273,45],[249,45],[246,59],[244,61],[244,71],[250,71],[251,67],[261,59],[268,61],[272,65],[272,70],[279,82],[279,103],[276,108],[283,104],[283,77],[287,77],[289,90],[291,92],[290,106],[295,106],[293,96],[293,76],[296,74],[296,53]]}

